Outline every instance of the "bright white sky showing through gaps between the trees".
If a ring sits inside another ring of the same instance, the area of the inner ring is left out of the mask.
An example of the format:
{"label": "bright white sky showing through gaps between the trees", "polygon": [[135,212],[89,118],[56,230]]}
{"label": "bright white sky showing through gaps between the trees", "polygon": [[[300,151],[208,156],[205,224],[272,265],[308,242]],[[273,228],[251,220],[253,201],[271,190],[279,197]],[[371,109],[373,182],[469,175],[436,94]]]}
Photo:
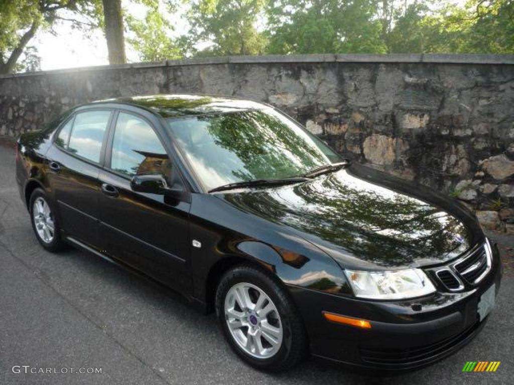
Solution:
{"label": "bright white sky showing through gaps between the trees", "polygon": [[[400,0],[397,0],[400,1]],[[408,0],[412,2],[413,0]],[[418,0],[419,1],[419,0]],[[463,5],[467,0],[448,0],[446,3]],[[404,0],[401,0],[403,4]],[[143,18],[144,6],[134,3],[134,0],[122,0],[124,10],[132,15]],[[175,25],[175,34],[178,31],[187,31],[188,23],[182,17],[187,11],[188,5],[179,9],[178,13],[170,14],[170,21]],[[86,66],[98,66],[109,64],[107,59],[107,44],[100,30],[95,30],[88,36],[77,29],[72,29],[68,22],[56,24],[53,28],[56,34],[50,31],[39,31],[29,45],[35,46],[41,57],[41,69],[43,71],[74,68]],[[204,46],[209,45],[205,43]],[[198,47],[203,48],[203,47]],[[125,45],[128,62],[138,62],[139,58],[130,45]]]}

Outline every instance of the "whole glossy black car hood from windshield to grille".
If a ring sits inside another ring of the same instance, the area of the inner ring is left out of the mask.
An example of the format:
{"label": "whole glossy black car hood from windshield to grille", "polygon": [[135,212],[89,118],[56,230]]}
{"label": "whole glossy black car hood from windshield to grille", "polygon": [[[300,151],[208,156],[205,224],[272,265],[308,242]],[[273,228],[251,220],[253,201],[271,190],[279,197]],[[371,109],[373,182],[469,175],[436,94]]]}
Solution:
{"label": "whole glossy black car hood from windshield to grille", "polygon": [[217,196],[296,229],[343,268],[433,265],[483,241],[474,216],[456,201],[359,164],[299,184]]}

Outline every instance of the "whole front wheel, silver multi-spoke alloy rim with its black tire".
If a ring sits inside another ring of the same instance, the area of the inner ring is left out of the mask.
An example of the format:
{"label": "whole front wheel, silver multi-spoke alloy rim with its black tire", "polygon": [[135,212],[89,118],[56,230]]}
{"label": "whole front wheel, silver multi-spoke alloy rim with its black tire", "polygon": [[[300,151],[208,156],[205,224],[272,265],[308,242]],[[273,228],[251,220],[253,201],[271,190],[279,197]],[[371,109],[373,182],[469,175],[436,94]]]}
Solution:
{"label": "whole front wheel, silver multi-spoke alloy rim with its black tire", "polygon": [[230,347],[258,369],[282,371],[307,353],[302,319],[285,287],[254,266],[236,266],[216,290],[216,315]]}

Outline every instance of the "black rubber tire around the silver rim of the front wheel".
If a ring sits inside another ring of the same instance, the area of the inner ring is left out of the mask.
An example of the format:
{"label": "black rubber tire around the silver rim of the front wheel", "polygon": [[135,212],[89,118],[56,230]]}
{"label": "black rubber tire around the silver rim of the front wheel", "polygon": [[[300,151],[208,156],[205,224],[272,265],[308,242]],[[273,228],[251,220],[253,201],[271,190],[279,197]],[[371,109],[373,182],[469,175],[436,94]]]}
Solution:
{"label": "black rubber tire around the silver rim of the front wheel", "polygon": [[[280,349],[277,348],[278,351],[269,358],[255,358],[247,353],[229,331],[225,315],[225,300],[230,289],[238,283],[250,283],[258,287],[271,299],[280,315],[283,330],[282,342]],[[280,372],[293,367],[306,357],[307,337],[301,316],[286,289],[270,277],[264,269],[251,265],[239,265],[230,269],[219,281],[215,306],[219,327],[230,347],[252,367],[269,372]]]}

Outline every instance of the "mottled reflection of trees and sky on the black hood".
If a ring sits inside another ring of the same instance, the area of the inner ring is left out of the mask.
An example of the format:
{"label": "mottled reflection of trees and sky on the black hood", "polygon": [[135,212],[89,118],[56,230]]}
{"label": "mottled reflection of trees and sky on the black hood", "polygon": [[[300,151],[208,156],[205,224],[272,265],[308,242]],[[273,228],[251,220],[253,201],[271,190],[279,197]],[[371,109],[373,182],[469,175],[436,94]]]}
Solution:
{"label": "mottled reflection of trees and sky on the black hood", "polygon": [[424,256],[443,258],[461,245],[455,235],[465,233],[463,225],[444,211],[342,171],[314,182],[226,199],[379,265],[406,265]]}

